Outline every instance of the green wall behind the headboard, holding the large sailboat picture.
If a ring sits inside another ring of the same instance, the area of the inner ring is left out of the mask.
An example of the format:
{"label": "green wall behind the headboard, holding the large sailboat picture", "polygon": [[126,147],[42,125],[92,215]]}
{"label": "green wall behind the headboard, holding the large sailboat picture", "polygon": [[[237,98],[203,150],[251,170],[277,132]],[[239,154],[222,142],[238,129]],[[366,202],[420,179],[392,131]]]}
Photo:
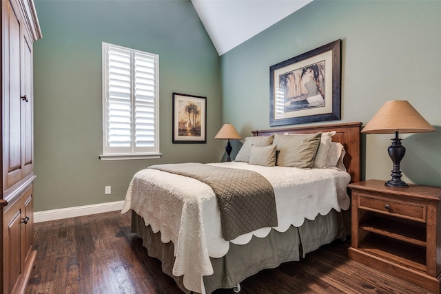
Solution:
{"label": "green wall behind the headboard, holding the large sailboat picture", "polygon": [[[385,101],[409,101],[437,132],[400,136],[402,179],[441,186],[440,28],[441,1],[313,1],[221,56],[223,120],[243,137],[269,129],[269,67],[342,39],[342,120],[329,123],[366,124]],[[362,135],[366,179],[391,178],[392,137]]]}

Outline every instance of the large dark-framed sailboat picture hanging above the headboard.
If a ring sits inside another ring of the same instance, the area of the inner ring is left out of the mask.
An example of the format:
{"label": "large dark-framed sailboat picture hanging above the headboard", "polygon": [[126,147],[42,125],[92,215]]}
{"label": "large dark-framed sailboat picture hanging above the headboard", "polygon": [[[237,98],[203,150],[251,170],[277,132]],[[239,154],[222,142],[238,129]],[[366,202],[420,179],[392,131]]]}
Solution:
{"label": "large dark-framed sailboat picture hanging above the headboard", "polygon": [[269,67],[269,125],[341,119],[341,40]]}

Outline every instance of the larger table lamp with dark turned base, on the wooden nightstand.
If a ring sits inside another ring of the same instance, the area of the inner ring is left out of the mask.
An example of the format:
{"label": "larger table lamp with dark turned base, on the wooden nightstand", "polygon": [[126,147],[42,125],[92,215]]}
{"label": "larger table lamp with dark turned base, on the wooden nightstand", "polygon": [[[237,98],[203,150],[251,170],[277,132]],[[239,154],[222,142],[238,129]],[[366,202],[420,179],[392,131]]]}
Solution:
{"label": "larger table lamp with dark turned base, on the wooden nightstand", "polygon": [[393,134],[392,145],[387,151],[393,162],[392,178],[384,183],[389,187],[409,187],[401,180],[400,162],[406,153],[406,148],[401,145],[398,133],[434,132],[435,129],[427,123],[415,108],[407,101],[387,101],[378,110],[375,116],[362,129],[362,133]]}

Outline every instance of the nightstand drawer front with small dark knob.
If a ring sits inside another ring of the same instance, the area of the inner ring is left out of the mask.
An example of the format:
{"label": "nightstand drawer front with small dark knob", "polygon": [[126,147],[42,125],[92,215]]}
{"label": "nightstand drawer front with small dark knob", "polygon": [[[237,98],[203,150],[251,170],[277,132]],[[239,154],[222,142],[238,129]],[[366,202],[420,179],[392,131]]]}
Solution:
{"label": "nightstand drawer front with small dark knob", "polygon": [[358,207],[360,209],[391,214],[400,218],[408,218],[411,220],[418,220],[420,222],[427,221],[427,208],[424,204],[400,202],[395,200],[391,201],[385,198],[360,194]]}

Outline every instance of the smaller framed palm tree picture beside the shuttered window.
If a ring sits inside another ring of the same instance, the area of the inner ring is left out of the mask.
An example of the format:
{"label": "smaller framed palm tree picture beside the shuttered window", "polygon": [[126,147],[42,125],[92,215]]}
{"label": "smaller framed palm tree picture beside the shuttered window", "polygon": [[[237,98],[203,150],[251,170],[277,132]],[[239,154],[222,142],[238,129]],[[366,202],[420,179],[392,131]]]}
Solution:
{"label": "smaller framed palm tree picture beside the shuttered window", "polygon": [[207,97],[173,93],[173,143],[207,143]]}

